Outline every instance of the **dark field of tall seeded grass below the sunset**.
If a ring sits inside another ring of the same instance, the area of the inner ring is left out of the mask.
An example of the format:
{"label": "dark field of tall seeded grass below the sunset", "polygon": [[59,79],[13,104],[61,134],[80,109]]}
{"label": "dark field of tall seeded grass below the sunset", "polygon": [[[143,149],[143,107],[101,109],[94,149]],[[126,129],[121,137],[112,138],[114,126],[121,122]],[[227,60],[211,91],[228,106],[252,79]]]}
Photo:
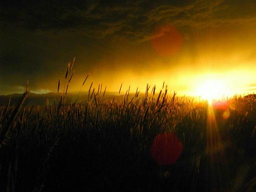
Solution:
{"label": "dark field of tall seeded grass below the sunset", "polygon": [[1,191],[255,191],[256,100],[167,89],[0,111]]}

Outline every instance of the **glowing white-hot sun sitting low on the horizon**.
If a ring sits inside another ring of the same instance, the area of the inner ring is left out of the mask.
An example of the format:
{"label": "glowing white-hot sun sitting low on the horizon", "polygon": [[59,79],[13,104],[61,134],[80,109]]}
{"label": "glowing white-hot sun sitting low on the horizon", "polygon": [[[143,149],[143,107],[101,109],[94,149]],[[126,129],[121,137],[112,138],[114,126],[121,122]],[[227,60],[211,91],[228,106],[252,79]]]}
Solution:
{"label": "glowing white-hot sun sitting low on the horizon", "polygon": [[214,99],[222,98],[226,90],[226,86],[222,80],[207,79],[199,84],[196,92],[202,99],[211,103]]}

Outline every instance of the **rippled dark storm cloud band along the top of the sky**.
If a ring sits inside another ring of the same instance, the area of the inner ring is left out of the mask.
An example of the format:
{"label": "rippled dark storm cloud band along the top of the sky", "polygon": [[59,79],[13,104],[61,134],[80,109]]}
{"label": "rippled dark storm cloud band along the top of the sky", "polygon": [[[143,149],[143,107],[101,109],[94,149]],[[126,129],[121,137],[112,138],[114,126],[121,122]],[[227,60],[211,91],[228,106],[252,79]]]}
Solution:
{"label": "rippled dark storm cloud band along the top of the sky", "polygon": [[252,23],[255,1],[2,1],[2,25],[75,30],[89,37],[151,39],[157,25],[207,28]]}

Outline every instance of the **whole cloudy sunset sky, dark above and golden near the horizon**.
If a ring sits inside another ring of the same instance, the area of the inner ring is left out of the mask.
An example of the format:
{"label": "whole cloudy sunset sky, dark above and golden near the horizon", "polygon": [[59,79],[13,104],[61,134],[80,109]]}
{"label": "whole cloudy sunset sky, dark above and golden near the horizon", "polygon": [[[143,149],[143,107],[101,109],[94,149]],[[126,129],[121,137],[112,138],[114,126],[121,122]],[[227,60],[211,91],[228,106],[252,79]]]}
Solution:
{"label": "whole cloudy sunset sky, dark above and golden near the horizon", "polygon": [[[84,78],[118,92],[147,84],[180,95],[224,85],[256,90],[256,2],[1,1],[0,95],[56,92],[75,57],[70,91]],[[205,84],[205,82],[210,82]]]}

